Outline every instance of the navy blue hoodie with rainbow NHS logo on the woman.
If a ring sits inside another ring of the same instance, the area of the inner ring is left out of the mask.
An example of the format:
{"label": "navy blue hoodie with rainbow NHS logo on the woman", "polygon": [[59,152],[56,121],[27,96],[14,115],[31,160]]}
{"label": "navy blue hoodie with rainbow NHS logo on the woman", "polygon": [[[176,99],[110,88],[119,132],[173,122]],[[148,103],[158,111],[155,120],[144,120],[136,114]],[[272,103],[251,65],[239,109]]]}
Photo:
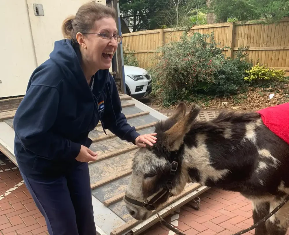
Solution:
{"label": "navy blue hoodie with rainbow NHS logo on the woman", "polygon": [[90,89],[71,40],[55,42],[50,58],[34,70],[14,116],[14,153],[20,170],[33,178],[66,174],[80,146],[89,148],[88,133],[101,121],[123,140],[139,135],[121,113],[116,83],[109,70],[95,74]]}

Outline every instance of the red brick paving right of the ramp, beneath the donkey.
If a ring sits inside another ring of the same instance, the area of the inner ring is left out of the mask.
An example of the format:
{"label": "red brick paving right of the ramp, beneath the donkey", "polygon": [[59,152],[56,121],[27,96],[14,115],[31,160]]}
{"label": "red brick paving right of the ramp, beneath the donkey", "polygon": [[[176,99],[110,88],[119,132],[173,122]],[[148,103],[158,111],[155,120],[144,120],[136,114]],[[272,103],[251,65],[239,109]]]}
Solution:
{"label": "red brick paving right of the ramp, beneath the donkey", "polygon": [[[200,209],[182,206],[165,220],[187,235],[232,235],[253,225],[251,202],[240,193],[209,189],[200,196]],[[254,234],[251,230],[245,235]],[[286,234],[289,234],[287,231]],[[175,235],[160,223],[142,235]]]}

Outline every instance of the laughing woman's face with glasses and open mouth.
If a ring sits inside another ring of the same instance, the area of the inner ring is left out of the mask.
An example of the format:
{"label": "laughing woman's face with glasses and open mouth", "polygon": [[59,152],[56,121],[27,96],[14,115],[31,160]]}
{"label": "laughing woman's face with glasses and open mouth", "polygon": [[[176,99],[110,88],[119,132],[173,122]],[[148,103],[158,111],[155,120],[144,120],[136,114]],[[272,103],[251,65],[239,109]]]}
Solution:
{"label": "laughing woman's face with glasses and open mouth", "polygon": [[[103,33],[103,35],[92,34]],[[105,17],[97,20],[94,27],[83,39],[84,57],[92,69],[109,69],[112,57],[117,49],[117,41],[111,35],[117,34],[115,20]],[[104,37],[106,35],[106,38]]]}

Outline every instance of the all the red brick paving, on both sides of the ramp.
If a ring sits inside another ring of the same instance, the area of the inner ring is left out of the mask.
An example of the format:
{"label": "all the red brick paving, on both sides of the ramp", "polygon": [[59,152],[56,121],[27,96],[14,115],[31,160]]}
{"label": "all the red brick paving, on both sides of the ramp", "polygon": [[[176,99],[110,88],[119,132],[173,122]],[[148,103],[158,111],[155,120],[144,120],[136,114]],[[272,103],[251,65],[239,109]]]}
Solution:
{"label": "all the red brick paving, on both sides of the ramp", "polygon": [[[188,203],[167,216],[166,221],[187,235],[231,235],[253,224],[251,203],[239,193],[209,189],[199,197],[200,210]],[[0,152],[0,235],[20,234],[47,235],[47,226],[18,168]],[[254,230],[246,233],[250,234]],[[142,235],[175,233],[157,223]]]}

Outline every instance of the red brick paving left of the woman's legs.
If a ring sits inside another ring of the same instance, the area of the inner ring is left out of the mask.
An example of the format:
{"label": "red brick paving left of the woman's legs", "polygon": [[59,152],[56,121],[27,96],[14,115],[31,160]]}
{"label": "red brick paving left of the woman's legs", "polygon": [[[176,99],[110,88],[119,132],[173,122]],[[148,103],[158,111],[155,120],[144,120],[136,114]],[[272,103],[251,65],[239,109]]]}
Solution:
{"label": "red brick paving left of the woman's legs", "polygon": [[47,235],[44,217],[28,192],[18,167],[0,152],[0,234]]}

